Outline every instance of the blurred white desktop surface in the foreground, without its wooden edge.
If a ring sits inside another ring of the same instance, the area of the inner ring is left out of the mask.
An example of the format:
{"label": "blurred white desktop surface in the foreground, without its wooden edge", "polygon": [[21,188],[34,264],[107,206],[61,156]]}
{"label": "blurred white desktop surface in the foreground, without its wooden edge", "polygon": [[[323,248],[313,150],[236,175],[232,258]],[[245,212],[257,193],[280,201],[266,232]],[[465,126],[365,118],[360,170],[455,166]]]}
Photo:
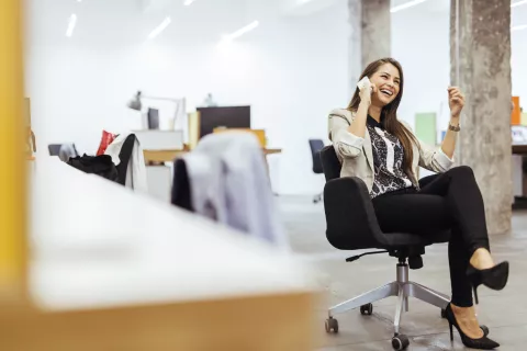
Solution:
{"label": "blurred white desktop surface in the foreground, without its wooden edge", "polygon": [[31,186],[30,290],[45,310],[312,290],[274,249],[57,158],[35,162]]}

